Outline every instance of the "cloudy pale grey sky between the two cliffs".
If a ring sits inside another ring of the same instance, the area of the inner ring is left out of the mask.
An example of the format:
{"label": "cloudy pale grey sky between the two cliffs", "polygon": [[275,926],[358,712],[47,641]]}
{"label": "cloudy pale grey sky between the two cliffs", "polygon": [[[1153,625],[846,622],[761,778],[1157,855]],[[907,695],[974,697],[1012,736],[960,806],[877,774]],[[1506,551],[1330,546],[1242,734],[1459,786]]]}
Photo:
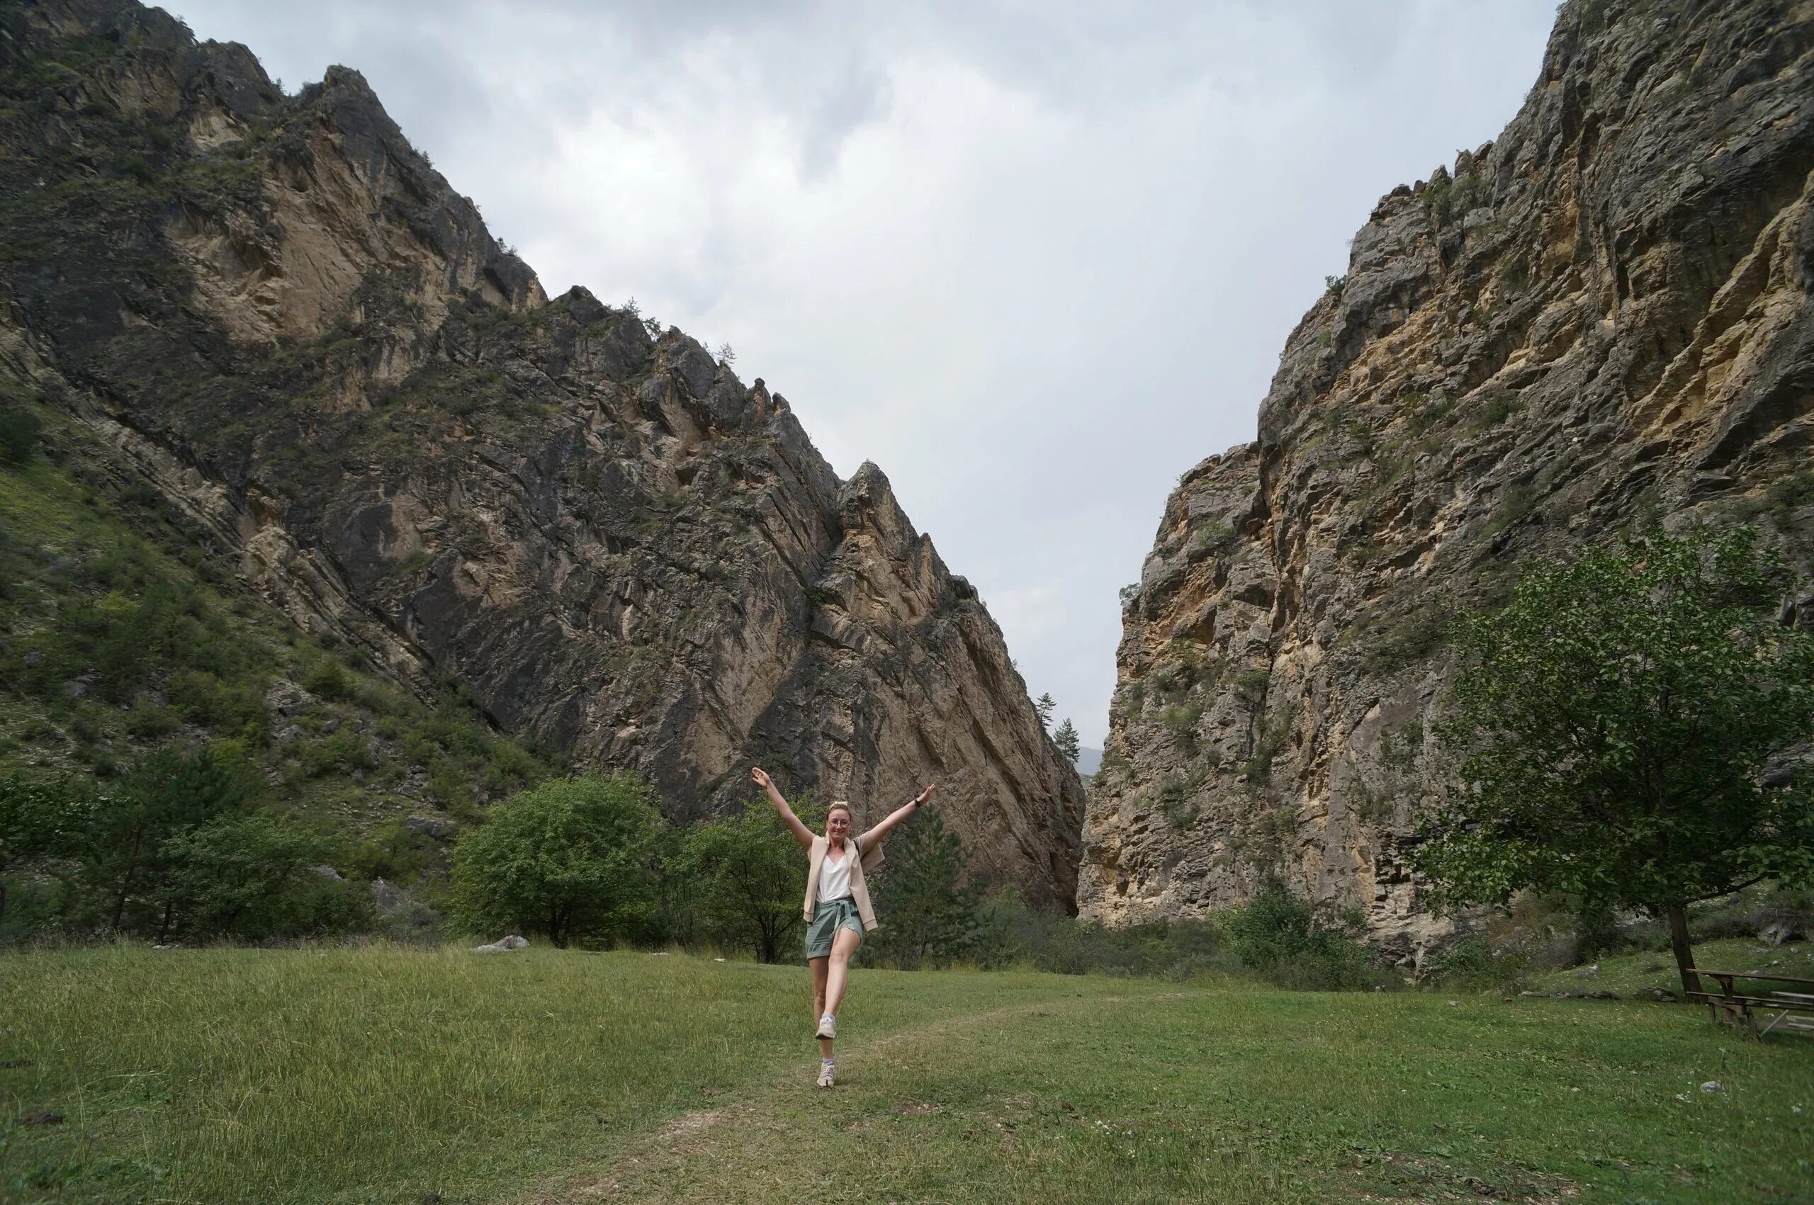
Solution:
{"label": "cloudy pale grey sky between the two cliffs", "polygon": [[357,67],[550,294],[793,403],[1101,744],[1116,592],[1253,437],[1382,192],[1495,138],[1555,0],[172,0],[288,91]]}

